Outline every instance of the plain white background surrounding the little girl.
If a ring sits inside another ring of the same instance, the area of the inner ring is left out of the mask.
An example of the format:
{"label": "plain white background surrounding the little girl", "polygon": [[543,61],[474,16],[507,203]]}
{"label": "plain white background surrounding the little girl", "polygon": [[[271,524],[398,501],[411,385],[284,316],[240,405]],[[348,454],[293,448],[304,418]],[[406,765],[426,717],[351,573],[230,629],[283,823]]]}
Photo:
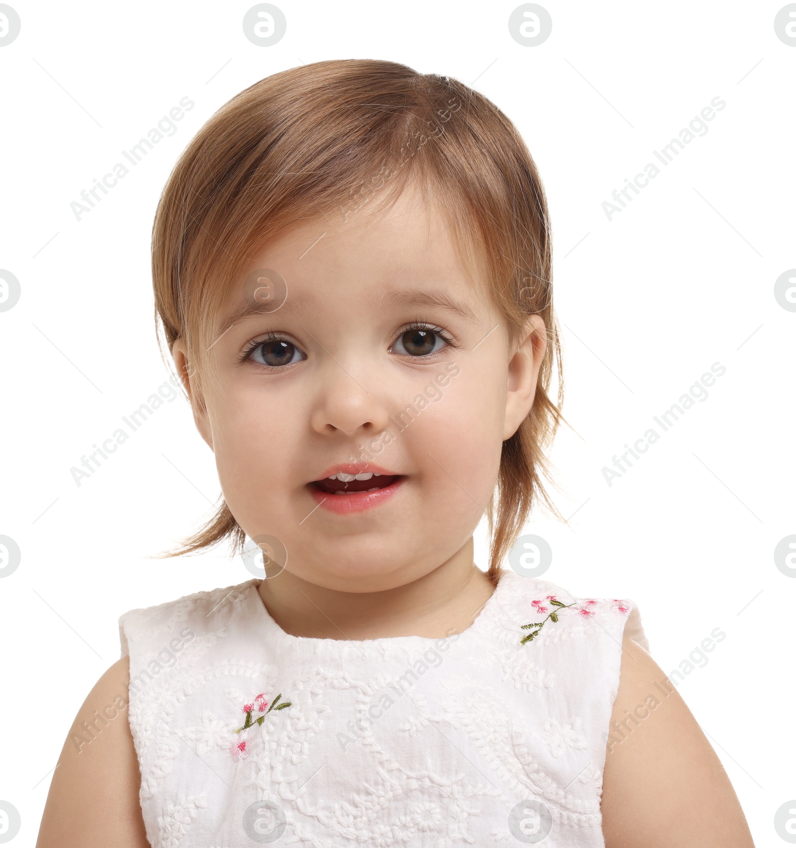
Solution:
{"label": "plain white background surrounding the little girl", "polygon": [[[250,577],[226,550],[147,558],[219,495],[182,398],[79,488],[70,468],[169,376],[149,235],[177,156],[244,87],[336,58],[474,82],[527,141],[551,208],[575,431],[552,452],[555,499],[564,516],[577,510],[569,526],[537,515],[528,532],[552,546],[546,579],[636,601],[664,672],[726,632],[679,690],[756,845],[783,845],[773,817],[796,798],[796,579],[773,558],[796,533],[796,313],[774,297],[796,266],[796,47],[773,25],[784,4],[544,0],[552,36],[538,47],[509,36],[519,3],[277,4],[287,34],[257,47],[241,26],[248,0],[12,3],[22,30],[0,47],[0,267],[21,297],[0,313],[0,533],[22,559],[0,580],[0,799],[21,813],[14,845],[35,843],[70,722],[118,659],[118,616]],[[185,96],[196,105],[176,135],[77,221],[81,189]],[[709,132],[608,221],[614,188],[717,96],[726,109]],[[609,487],[603,466],[714,362],[726,374],[709,398]]]}

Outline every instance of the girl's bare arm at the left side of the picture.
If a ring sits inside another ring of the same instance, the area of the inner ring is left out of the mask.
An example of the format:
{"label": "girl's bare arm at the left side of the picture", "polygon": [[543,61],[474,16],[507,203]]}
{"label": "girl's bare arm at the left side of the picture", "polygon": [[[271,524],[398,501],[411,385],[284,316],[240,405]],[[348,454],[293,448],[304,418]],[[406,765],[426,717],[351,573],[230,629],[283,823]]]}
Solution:
{"label": "girl's bare arm at the left side of the picture", "polygon": [[99,678],[77,713],[53,774],[36,848],[149,848],[127,721],[129,680],[124,657]]}

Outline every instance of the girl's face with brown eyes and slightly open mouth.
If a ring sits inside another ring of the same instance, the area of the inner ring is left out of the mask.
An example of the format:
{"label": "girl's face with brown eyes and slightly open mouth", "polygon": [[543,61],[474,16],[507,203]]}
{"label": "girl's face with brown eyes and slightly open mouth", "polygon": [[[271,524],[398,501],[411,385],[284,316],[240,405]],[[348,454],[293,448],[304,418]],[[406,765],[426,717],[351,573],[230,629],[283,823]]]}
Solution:
{"label": "girl's face with brown eyes and slightly open mouth", "polygon": [[[275,311],[279,284],[252,285],[261,269],[287,285]],[[527,333],[510,349],[485,282],[414,195],[294,226],[228,296],[210,349],[221,388],[195,412],[238,524],[276,537],[288,571],[328,589],[433,571],[468,543],[502,442],[530,411],[538,316]],[[174,354],[182,373],[181,341]]]}

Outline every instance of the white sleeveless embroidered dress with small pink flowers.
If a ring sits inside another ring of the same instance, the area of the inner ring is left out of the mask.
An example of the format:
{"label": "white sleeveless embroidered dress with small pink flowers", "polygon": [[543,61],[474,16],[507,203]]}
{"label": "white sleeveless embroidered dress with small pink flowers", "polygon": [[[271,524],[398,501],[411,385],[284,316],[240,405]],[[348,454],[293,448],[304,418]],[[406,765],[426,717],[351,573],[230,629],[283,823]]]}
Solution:
{"label": "white sleeveless embroidered dress with small pink flowers", "polygon": [[461,634],[306,639],[259,583],[120,618],[154,848],[604,845],[632,601],[503,572]]}

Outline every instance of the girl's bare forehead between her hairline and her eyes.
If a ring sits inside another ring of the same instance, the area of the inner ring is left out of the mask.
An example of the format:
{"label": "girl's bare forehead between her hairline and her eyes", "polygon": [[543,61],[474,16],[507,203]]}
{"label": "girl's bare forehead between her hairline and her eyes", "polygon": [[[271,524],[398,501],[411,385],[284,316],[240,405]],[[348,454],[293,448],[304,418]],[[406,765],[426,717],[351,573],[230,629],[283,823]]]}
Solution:
{"label": "girl's bare forehead between her hairline and her eyes", "polygon": [[[244,269],[276,271],[287,287],[282,310],[314,311],[441,305],[475,320],[488,305],[479,274],[457,249],[446,215],[417,193],[404,192],[388,208],[365,207],[347,219],[318,215],[266,243]],[[225,325],[273,311],[246,285],[231,288]],[[250,287],[250,286],[249,286]]]}

